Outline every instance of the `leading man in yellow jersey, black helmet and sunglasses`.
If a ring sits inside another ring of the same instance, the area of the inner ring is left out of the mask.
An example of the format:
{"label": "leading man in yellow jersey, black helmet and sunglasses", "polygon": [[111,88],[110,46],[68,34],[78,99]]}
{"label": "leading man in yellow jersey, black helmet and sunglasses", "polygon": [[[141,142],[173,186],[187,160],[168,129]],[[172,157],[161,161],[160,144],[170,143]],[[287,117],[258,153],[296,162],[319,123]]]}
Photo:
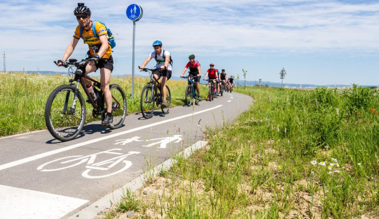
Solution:
{"label": "leading man in yellow jersey, black helmet and sunglasses", "polygon": [[[64,62],[71,56],[80,38],[84,43],[88,44],[89,51],[87,52],[88,64],[85,67],[85,74],[96,72],[100,69],[100,83],[105,96],[107,105],[107,114],[102,121],[103,126],[109,126],[113,122],[112,116],[112,94],[109,90],[109,81],[113,71],[113,58],[111,55],[112,49],[108,44],[107,29],[100,22],[96,22],[95,31],[99,37],[92,31],[93,22],[91,21],[91,11],[84,3],[78,3],[78,7],[74,10],[74,15],[79,25],[76,27],[73,38],[68,44],[62,60],[58,60],[57,66],[62,66]],[[82,27],[82,33],[80,29]],[[90,84],[89,80],[83,79]]]}

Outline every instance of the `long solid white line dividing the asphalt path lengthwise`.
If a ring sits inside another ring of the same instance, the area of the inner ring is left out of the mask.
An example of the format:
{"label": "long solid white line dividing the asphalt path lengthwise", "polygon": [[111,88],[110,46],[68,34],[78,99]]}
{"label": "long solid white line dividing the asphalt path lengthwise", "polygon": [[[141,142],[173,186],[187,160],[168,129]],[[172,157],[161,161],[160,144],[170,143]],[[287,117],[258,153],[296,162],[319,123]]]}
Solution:
{"label": "long solid white line dividing the asphalt path lengthwise", "polygon": [[207,111],[212,111],[213,109],[221,107],[221,106],[222,105],[217,105],[217,106],[214,106],[212,108],[204,109],[203,111],[199,111],[199,112],[196,112],[196,113],[187,114],[187,115],[184,115],[184,116],[168,119],[168,120],[157,122],[157,123],[153,123],[153,124],[150,124],[150,125],[137,127],[137,128],[134,128],[134,129],[129,129],[129,130],[126,130],[126,131],[123,131],[123,132],[115,133],[115,134],[112,134],[112,135],[107,135],[107,136],[104,136],[104,137],[101,137],[101,138],[92,139],[92,140],[81,142],[81,143],[77,143],[77,144],[74,144],[74,145],[71,145],[71,146],[63,147],[63,148],[60,148],[60,149],[56,149],[56,150],[40,153],[40,154],[37,154],[37,155],[34,155],[34,156],[26,157],[26,158],[23,158],[23,159],[19,159],[19,160],[13,161],[13,162],[5,163],[4,165],[0,165],[0,171],[8,169],[8,168],[11,168],[11,167],[15,167],[15,166],[18,166],[18,165],[22,165],[23,163],[30,162],[30,161],[33,161],[33,160],[36,160],[36,159],[40,159],[40,158],[43,158],[43,157],[46,157],[46,156],[57,154],[57,153],[60,153],[60,152],[63,152],[63,151],[71,150],[71,149],[74,149],[74,148],[77,148],[77,147],[81,147],[81,146],[84,146],[84,145],[87,145],[87,144],[92,144],[94,142],[106,140],[106,139],[109,139],[109,138],[114,138],[114,137],[117,137],[119,135],[124,135],[124,134],[127,134],[127,133],[131,133],[131,132],[135,132],[135,131],[138,131],[138,130],[150,128],[150,127],[153,127],[153,126],[158,126],[158,125],[161,125],[161,124],[164,124],[164,123],[169,123],[169,122],[172,122],[172,121],[175,121],[175,120],[180,120],[180,119],[183,119],[183,118],[186,118],[186,117],[191,117],[191,116],[194,116],[194,115],[197,115],[197,114],[201,114],[201,113],[204,113],[204,112],[207,112]]}

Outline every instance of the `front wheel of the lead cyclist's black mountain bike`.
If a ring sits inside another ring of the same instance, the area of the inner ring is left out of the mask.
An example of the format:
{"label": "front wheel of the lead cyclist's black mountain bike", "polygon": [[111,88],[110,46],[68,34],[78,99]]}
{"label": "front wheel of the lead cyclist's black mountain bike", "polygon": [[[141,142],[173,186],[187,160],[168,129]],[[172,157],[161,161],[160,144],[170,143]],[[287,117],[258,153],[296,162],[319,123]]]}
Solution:
{"label": "front wheel of the lead cyclist's black mountain bike", "polygon": [[[74,92],[73,86],[61,85],[53,90],[46,101],[46,127],[60,141],[74,139],[84,126],[85,102],[80,92],[74,102]],[[72,108],[74,103],[76,107]]]}

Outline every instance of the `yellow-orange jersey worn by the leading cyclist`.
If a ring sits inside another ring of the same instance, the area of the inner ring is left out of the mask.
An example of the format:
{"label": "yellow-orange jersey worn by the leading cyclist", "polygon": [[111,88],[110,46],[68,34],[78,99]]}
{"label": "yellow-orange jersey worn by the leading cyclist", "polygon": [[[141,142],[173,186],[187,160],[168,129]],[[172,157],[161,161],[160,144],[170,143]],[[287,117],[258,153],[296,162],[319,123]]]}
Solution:
{"label": "yellow-orange jersey worn by the leading cyclist", "polygon": [[[93,23],[94,22],[92,22],[92,25]],[[98,33],[99,37],[102,35],[107,35],[107,29],[105,28],[103,24],[101,24],[100,22],[96,22],[95,25],[96,25],[95,30]],[[74,37],[77,39],[80,39],[80,24],[75,29]],[[94,57],[94,52],[96,53],[99,52],[100,47],[102,46],[102,43],[100,39],[94,35],[92,31],[92,27],[89,28],[88,31],[86,31],[85,28],[83,28],[81,38],[83,38],[84,43],[88,44],[90,56]],[[108,44],[108,49],[105,51],[104,56],[100,57],[100,59],[109,59],[109,57],[111,57],[111,52],[112,52],[111,46]]]}

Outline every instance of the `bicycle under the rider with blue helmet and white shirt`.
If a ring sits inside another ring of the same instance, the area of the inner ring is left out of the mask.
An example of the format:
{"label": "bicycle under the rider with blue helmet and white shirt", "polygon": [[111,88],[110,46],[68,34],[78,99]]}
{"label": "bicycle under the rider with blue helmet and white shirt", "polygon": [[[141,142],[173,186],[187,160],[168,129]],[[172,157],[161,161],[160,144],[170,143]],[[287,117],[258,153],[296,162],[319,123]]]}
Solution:
{"label": "bicycle under the rider with blue helmet and white shirt", "polygon": [[[139,66],[138,66],[139,68]],[[140,100],[140,106],[141,106],[141,113],[145,117],[145,119],[150,119],[153,116],[154,113],[154,107],[155,104],[156,106],[161,106],[162,113],[163,114],[168,114],[171,108],[171,92],[170,89],[166,86],[166,101],[167,101],[167,106],[163,107],[162,106],[162,93],[160,89],[155,88],[155,82],[157,82],[157,87],[160,88],[159,81],[155,79],[154,77],[154,72],[156,71],[161,71],[160,69],[147,69],[145,68],[144,70],[141,70],[144,72],[149,72],[150,74],[150,82],[144,87],[141,93],[141,100]],[[156,91],[157,90],[157,91]]]}

